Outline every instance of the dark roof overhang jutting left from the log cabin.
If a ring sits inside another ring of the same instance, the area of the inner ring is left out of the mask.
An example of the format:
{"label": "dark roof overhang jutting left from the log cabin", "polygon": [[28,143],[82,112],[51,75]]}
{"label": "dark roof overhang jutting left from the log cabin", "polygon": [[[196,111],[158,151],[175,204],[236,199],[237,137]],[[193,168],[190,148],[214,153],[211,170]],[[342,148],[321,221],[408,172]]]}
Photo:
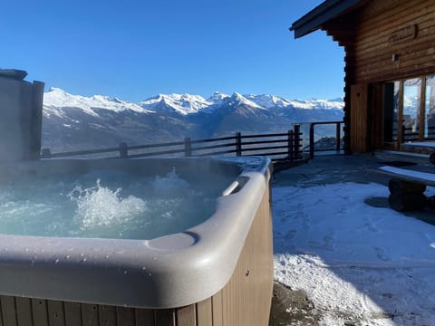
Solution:
{"label": "dark roof overhang jutting left from the log cabin", "polygon": [[295,38],[313,33],[333,18],[358,7],[362,2],[363,0],[326,0],[295,21],[290,27],[290,31],[295,31]]}

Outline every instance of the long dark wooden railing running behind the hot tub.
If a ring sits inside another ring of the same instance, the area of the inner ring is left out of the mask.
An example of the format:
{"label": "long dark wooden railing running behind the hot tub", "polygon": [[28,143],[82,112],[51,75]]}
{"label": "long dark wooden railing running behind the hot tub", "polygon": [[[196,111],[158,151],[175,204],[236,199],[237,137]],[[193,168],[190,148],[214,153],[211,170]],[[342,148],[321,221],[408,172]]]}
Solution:
{"label": "long dark wooden railing running behind the hot tub", "polygon": [[109,158],[146,158],[146,157],[207,157],[228,155],[268,156],[272,160],[295,161],[302,158],[302,133],[299,125],[283,133],[242,135],[215,139],[190,139],[166,143],[128,146],[121,143],[108,149],[76,150],[52,153],[43,149],[41,158],[86,157],[96,154],[117,153]]}

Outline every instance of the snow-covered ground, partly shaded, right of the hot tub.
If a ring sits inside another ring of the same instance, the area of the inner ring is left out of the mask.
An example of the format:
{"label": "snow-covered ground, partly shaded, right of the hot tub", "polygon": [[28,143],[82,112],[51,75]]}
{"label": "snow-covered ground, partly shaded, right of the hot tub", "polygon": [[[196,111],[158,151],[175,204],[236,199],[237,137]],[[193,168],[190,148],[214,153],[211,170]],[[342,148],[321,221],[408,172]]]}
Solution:
{"label": "snow-covered ground, partly shaded, right of the hot tub", "polygon": [[435,226],[390,209],[384,185],[346,182],[351,166],[311,168],[277,174],[275,280],[304,290],[321,325],[435,325]]}

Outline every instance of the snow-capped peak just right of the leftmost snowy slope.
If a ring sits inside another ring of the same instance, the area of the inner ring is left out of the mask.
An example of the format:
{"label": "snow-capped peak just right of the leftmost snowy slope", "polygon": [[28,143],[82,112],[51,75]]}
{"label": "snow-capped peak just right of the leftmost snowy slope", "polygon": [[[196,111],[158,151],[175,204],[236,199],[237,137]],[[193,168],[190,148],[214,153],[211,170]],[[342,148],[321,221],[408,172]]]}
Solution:
{"label": "snow-capped peak just right of the leftmost snowy slope", "polygon": [[181,115],[197,113],[199,110],[208,108],[212,104],[213,102],[207,101],[200,95],[189,94],[159,94],[140,102],[142,108],[176,111]]}

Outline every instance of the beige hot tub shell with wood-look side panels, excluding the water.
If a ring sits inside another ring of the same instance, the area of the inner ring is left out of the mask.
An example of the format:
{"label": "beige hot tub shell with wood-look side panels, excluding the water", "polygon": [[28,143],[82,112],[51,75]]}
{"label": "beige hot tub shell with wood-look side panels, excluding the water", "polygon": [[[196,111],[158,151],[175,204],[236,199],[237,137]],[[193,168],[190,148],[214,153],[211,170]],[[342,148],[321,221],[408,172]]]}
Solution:
{"label": "beige hot tub shell with wood-look side panels, excluding the water", "polygon": [[[143,161],[47,161],[35,171],[133,168]],[[273,286],[270,161],[172,162],[195,170],[240,167],[240,186],[218,198],[204,223],[152,240],[0,235],[3,324],[266,325]]]}

